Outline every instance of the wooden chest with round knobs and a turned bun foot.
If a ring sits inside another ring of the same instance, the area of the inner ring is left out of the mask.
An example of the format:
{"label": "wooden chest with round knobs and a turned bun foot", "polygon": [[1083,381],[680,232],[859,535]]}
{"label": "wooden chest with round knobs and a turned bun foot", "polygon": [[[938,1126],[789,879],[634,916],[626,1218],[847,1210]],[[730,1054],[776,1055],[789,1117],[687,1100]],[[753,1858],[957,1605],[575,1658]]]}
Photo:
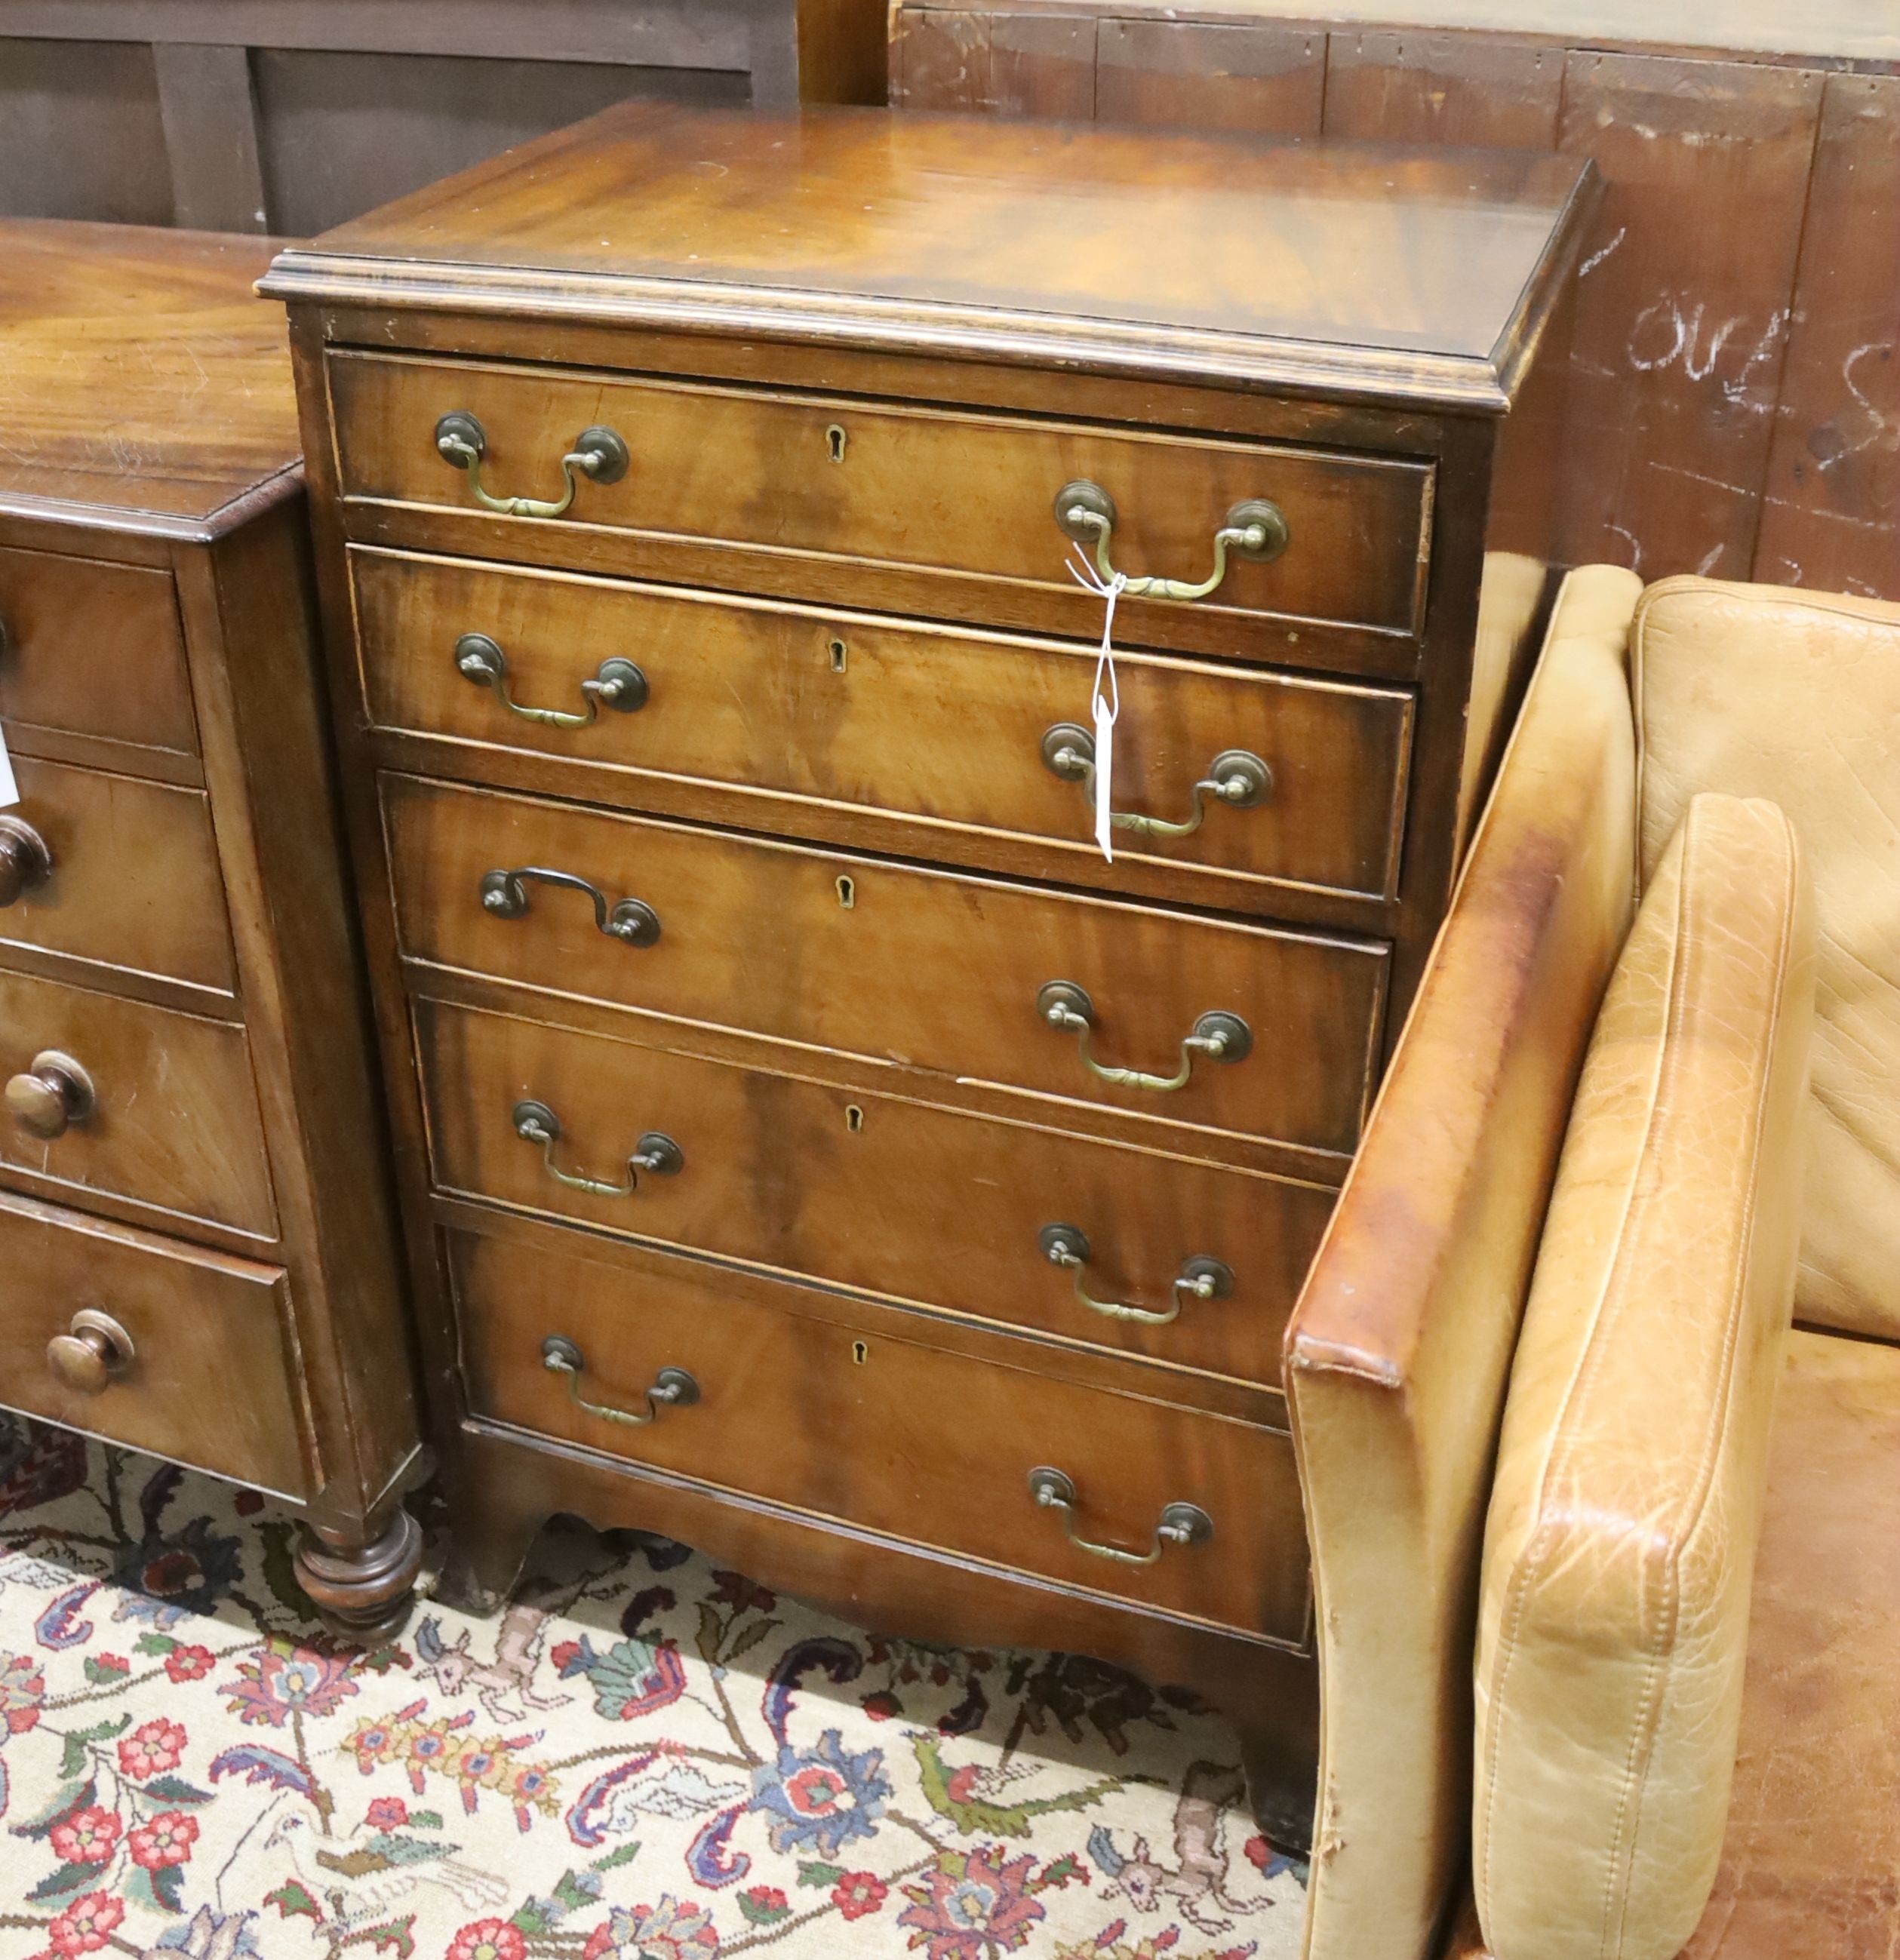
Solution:
{"label": "wooden chest with round knobs and a turned bun foot", "polygon": [[376,1639],[418,1421],[267,261],[0,223],[0,1403],[273,1492]]}

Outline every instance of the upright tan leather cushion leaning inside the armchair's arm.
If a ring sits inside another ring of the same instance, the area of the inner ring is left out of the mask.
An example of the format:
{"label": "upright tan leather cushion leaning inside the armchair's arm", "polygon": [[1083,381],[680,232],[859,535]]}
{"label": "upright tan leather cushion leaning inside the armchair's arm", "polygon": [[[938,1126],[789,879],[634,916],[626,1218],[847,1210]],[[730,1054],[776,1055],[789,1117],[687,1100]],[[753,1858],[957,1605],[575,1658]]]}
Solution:
{"label": "upright tan leather cushion leaning inside the armchair's arm", "polygon": [[1716,1876],[1812,1011],[1788,819],[1698,796],[1590,1041],[1512,1366],[1473,1791],[1498,1960],[1673,1960]]}

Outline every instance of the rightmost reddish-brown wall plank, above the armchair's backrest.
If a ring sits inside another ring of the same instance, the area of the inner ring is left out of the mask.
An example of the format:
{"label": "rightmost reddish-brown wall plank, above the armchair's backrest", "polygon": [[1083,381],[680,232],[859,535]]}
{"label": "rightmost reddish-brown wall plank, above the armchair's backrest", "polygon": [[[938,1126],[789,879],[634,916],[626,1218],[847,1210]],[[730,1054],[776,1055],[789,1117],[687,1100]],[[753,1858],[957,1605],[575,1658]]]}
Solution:
{"label": "rightmost reddish-brown wall plank, above the armchair's backrest", "polygon": [[1755,576],[1900,598],[1900,76],[1827,80]]}

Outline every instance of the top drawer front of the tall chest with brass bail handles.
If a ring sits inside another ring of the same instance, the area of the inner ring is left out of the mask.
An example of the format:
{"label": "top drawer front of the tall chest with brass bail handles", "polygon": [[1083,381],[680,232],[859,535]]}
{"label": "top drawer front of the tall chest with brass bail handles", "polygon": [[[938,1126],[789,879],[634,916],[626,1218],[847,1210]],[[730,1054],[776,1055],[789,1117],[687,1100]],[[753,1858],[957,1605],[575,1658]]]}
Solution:
{"label": "top drawer front of the tall chest with brass bail handles", "polygon": [[461,410],[482,429],[484,488],[549,500],[561,457],[602,425],[629,465],[618,482],[580,482],[575,523],[1010,580],[1065,600],[1075,547],[1055,502],[1067,484],[1088,480],[1114,500],[1118,570],[1190,582],[1214,568],[1233,506],[1265,498],[1286,519],[1286,549],[1271,563],[1229,559],[1204,610],[1418,625],[1431,472],[1416,463],[400,355],[335,353],[329,380],[345,496],[476,510],[467,470],[435,447],[439,417]]}

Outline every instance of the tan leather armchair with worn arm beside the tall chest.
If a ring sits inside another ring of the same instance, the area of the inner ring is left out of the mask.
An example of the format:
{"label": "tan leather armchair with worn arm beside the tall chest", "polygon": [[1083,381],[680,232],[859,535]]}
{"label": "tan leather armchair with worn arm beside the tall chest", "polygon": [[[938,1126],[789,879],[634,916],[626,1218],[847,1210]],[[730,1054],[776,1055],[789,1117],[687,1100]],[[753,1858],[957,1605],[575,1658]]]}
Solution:
{"label": "tan leather armchair with worn arm beside the tall chest", "polygon": [[1288,1327],[1312,1960],[1900,1946],[1896,1341],[1900,608],[1575,572]]}

